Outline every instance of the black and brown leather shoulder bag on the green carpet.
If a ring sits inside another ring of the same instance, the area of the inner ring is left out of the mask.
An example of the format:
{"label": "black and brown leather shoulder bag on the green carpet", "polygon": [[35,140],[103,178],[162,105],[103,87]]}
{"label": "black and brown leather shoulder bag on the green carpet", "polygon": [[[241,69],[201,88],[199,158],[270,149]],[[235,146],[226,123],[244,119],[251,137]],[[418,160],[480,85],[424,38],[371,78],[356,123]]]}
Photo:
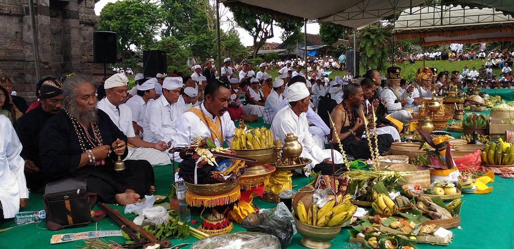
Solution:
{"label": "black and brown leather shoulder bag on the green carpet", "polygon": [[46,184],[43,196],[46,228],[57,231],[64,227],[89,224],[96,196],[95,193],[88,193],[85,179],[70,178]]}

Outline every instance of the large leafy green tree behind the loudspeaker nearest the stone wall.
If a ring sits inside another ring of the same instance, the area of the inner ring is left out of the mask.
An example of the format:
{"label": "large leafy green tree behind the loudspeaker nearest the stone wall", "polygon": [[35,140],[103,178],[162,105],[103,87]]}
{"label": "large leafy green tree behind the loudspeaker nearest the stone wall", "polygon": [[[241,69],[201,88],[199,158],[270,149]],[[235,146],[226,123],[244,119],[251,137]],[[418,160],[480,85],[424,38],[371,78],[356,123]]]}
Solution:
{"label": "large leafy green tree behind the loudspeaker nearest the stone wall", "polygon": [[98,29],[116,32],[124,65],[131,48],[143,50],[155,43],[161,25],[161,9],[150,0],[124,0],[103,7]]}

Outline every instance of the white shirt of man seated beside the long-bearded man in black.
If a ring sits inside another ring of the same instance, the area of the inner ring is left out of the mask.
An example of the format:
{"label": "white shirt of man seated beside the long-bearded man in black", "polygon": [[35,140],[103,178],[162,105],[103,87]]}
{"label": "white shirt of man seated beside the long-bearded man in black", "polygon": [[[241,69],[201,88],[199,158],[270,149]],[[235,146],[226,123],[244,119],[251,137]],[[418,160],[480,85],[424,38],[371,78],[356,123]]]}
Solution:
{"label": "white shirt of man seated beside the long-bearded man in black", "polygon": [[127,138],[136,137],[134,126],[132,125],[132,111],[128,105],[122,104],[118,106],[119,109],[116,109],[116,106],[109,102],[107,98],[103,98],[97,103],[97,107],[107,113],[113,123],[118,126],[118,129],[120,129]]}

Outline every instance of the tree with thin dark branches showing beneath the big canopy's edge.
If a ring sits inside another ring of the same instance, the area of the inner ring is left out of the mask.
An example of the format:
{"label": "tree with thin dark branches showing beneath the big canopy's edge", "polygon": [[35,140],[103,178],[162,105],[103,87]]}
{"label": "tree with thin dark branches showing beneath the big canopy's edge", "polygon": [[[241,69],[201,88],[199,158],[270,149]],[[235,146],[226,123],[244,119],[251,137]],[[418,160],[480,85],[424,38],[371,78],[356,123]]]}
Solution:
{"label": "tree with thin dark branches showing beneath the big canopy's edge", "polygon": [[303,21],[299,20],[274,20],[273,16],[260,13],[251,8],[241,7],[235,4],[225,4],[232,14],[238,26],[246,30],[253,37],[253,58],[257,57],[257,52],[266,43],[267,39],[274,36],[273,24],[277,24],[284,29],[281,38],[286,40],[295,30],[301,29]]}

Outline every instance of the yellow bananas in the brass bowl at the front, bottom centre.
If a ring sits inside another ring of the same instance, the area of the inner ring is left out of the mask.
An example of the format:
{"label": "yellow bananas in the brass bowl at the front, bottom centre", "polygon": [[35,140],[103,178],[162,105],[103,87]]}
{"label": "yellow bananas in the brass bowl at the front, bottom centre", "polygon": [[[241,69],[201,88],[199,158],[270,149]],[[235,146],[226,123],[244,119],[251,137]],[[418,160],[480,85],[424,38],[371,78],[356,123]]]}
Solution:
{"label": "yellow bananas in the brass bowl at the front, bottom centre", "polygon": [[[351,195],[337,196],[336,200],[327,201],[322,207],[318,208],[315,203],[306,207],[303,202],[298,202],[298,218],[301,222],[319,226],[333,227],[338,226],[352,218],[357,211],[357,206],[352,204]],[[307,210],[308,208],[308,210]]]}

